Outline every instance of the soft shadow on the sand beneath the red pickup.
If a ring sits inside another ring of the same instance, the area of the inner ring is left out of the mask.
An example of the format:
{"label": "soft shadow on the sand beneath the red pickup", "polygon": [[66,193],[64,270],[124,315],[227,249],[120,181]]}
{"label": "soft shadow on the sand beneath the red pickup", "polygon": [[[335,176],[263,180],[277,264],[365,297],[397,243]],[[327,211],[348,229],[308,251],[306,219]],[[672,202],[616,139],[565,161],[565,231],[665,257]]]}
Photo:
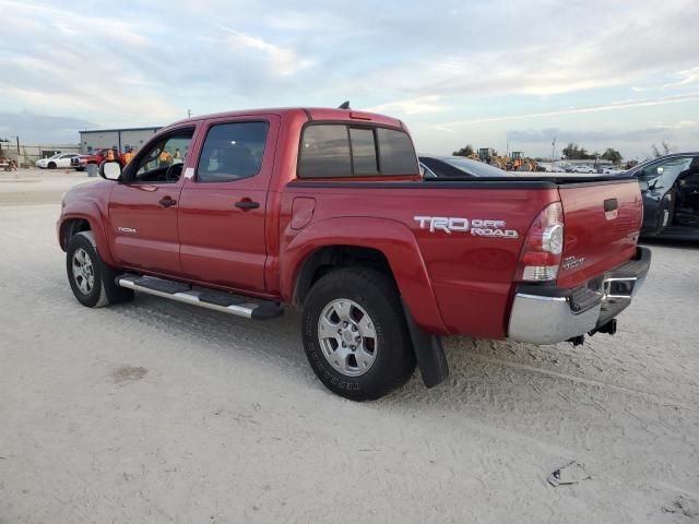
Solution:
{"label": "soft shadow on the sand beneath the red pickup", "polygon": [[[306,360],[298,311],[287,309],[283,318],[250,322],[147,296],[138,296],[133,306],[118,310],[168,326],[167,331],[191,340],[199,350],[220,353],[226,358],[262,360],[265,366],[279,368],[286,376],[284,380],[300,381],[305,386],[325,392]],[[450,366],[450,377],[445,383],[428,390],[416,370],[404,386],[365,405],[371,409],[427,408],[461,414],[507,408],[532,415],[547,409],[569,416],[573,405],[579,409],[584,403],[594,406],[591,409],[595,413],[604,412],[608,394],[638,398],[651,394],[637,380],[649,373],[642,356],[633,355],[636,342],[631,333],[615,337],[597,335],[576,348],[570,344],[535,346],[447,337],[445,350]],[[328,402],[345,402],[327,394]],[[606,400],[594,400],[601,395]]]}

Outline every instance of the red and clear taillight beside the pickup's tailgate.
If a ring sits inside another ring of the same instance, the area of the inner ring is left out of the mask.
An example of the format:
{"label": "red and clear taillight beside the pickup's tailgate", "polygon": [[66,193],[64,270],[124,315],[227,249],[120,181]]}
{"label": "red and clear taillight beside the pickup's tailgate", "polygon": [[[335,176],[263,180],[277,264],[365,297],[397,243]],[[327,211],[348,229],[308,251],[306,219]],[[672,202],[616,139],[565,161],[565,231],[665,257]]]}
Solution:
{"label": "red and clear taillight beside the pickup's tailgate", "polygon": [[519,282],[556,279],[562,252],[564,207],[560,202],[554,202],[544,207],[529,228],[514,279]]}

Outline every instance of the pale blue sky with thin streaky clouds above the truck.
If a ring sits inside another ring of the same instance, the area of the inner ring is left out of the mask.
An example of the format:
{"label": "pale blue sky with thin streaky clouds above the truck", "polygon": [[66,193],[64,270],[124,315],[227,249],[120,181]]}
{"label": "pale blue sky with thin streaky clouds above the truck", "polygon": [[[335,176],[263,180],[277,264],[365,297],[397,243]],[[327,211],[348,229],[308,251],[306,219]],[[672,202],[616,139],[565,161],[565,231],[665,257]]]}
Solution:
{"label": "pale blue sky with thin streaky clouds above the truck", "polygon": [[419,152],[699,150],[698,0],[0,0],[0,138],[258,107],[401,118]]}

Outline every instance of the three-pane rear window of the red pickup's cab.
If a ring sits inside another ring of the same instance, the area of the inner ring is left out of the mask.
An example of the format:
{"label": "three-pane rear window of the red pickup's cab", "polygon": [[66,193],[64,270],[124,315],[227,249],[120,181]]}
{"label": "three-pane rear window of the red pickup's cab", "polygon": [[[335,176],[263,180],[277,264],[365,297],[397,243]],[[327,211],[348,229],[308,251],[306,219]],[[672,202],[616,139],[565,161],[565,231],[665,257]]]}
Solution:
{"label": "three-pane rear window of the red pickup's cab", "polygon": [[411,138],[391,128],[316,123],[301,134],[298,178],[418,175]]}

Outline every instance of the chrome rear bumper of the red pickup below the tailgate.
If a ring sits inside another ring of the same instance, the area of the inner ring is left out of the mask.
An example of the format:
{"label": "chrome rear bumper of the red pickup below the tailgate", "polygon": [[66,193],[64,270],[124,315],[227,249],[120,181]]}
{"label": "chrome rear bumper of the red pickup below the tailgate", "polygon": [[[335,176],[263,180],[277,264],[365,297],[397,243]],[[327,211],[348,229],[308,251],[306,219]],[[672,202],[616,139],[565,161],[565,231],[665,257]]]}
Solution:
{"label": "chrome rear bumper of the red pickup below the tailgate", "polygon": [[651,251],[638,248],[627,263],[576,289],[522,285],[517,289],[508,338],[556,344],[594,334],[631,303],[651,265]]}

